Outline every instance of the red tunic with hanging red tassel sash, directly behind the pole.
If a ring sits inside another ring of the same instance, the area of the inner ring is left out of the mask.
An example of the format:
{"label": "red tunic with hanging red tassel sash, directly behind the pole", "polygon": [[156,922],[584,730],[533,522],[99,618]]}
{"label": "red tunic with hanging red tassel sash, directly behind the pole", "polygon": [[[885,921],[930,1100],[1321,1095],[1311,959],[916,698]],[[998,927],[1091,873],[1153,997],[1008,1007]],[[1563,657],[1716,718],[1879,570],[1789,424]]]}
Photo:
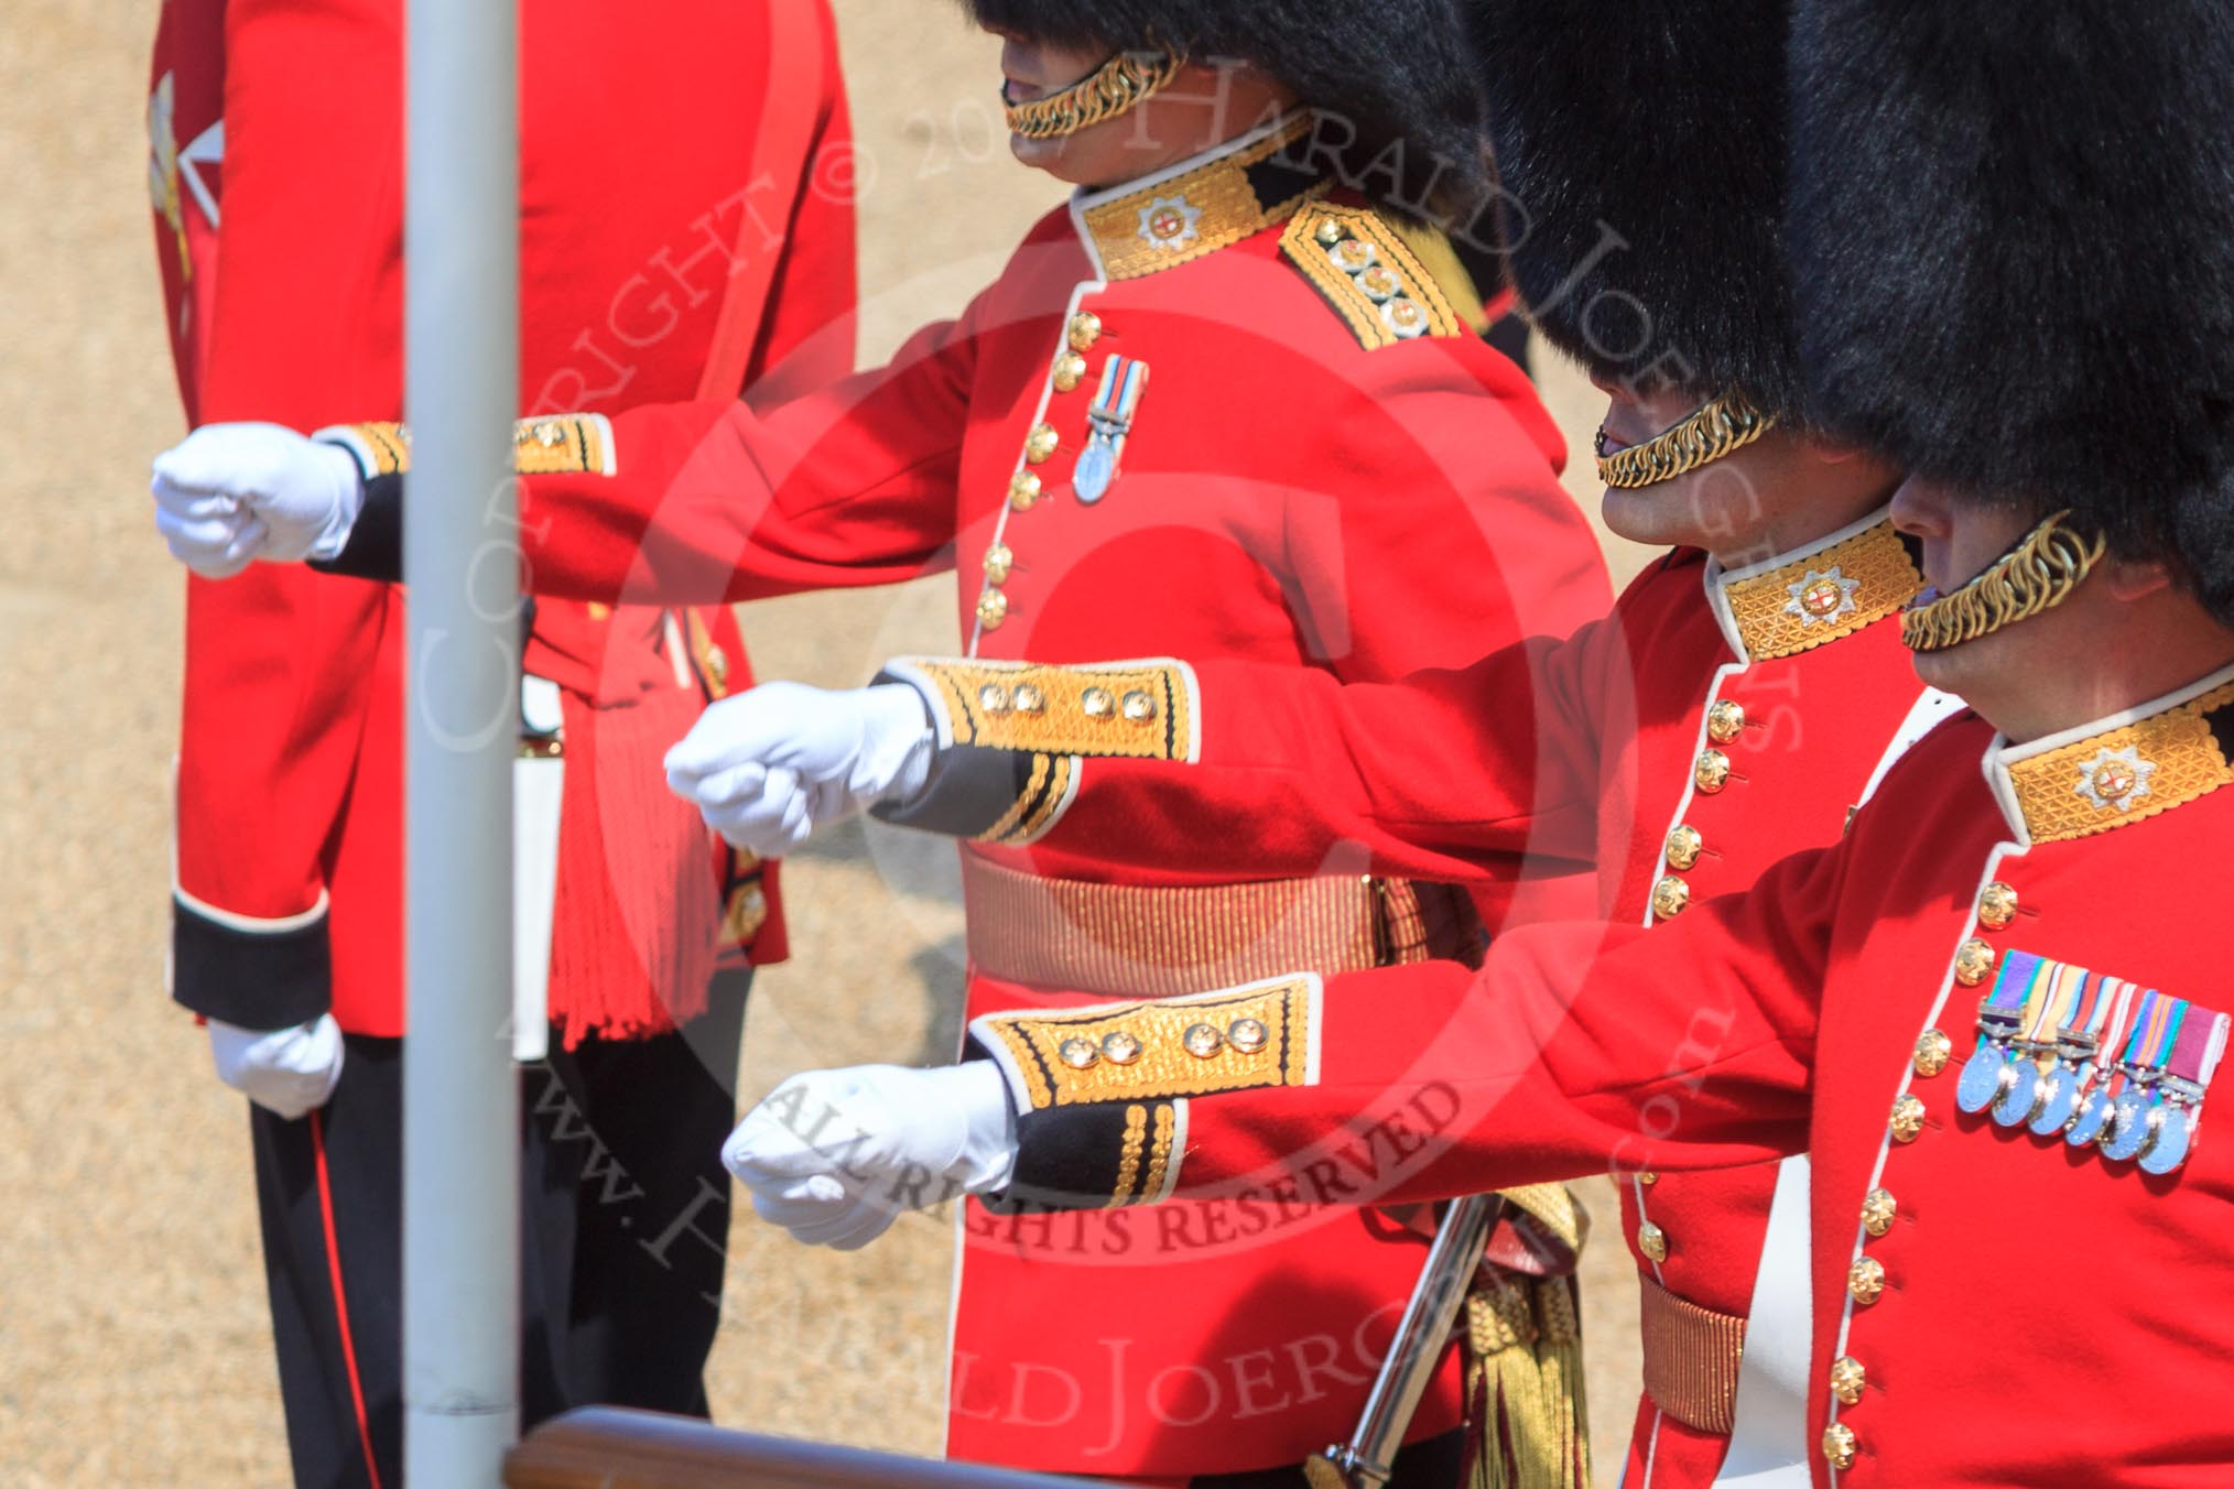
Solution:
{"label": "red tunic with hanging red tassel sash, directly behind the pole", "polygon": [[[521,60],[529,411],[695,397],[715,364],[742,382],[793,353],[813,382],[851,366],[851,203],[815,174],[847,150],[824,7],[552,0],[532,9]],[[188,417],[393,417],[400,0],[170,0],[154,71],[156,239]],[[748,299],[717,355],[733,268]],[[652,609],[536,616],[527,665],[565,688],[552,1009],[570,1034],[688,1011],[724,891],[731,931],[753,940],[768,918],[757,866],[724,886],[704,828],[659,790],[659,752],[744,679],[735,623],[686,621],[677,647]],[[402,634],[384,585],[284,567],[188,583],[188,1007],[250,1027],[331,1007],[344,1029],[402,1031]],[[608,819],[641,833],[608,835]],[[780,922],[753,951],[782,955]],[[601,1016],[614,1007],[632,1014]]]}

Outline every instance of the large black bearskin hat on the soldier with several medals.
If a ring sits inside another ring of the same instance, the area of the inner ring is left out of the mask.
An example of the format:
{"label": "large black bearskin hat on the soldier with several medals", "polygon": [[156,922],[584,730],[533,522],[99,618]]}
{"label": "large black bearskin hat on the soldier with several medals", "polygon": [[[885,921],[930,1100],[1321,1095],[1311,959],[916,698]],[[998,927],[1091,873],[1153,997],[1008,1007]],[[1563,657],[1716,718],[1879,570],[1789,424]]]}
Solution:
{"label": "large black bearskin hat on the soldier with several medals", "polygon": [[1792,65],[1825,415],[2234,621],[2234,7],[1803,0]]}

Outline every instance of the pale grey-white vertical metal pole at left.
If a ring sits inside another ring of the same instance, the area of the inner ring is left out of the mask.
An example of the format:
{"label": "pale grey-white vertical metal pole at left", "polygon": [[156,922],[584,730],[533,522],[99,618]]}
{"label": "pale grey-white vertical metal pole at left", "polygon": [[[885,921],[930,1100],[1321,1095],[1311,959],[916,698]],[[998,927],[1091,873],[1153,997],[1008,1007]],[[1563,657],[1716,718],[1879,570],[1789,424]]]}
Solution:
{"label": "pale grey-white vertical metal pole at left", "polygon": [[404,1476],[494,1489],[518,1438],[512,1065],[518,752],[518,20],[411,0],[404,413],[413,431],[404,1040]]}

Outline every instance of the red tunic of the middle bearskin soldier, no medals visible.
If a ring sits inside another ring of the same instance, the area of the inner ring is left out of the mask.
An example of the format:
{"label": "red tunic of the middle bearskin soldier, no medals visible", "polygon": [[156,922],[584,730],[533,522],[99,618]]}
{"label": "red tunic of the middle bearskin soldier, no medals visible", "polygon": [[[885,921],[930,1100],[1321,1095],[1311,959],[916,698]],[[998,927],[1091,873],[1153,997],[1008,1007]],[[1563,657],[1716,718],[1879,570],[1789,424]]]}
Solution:
{"label": "red tunic of the middle bearskin soldier, no medals visible", "polygon": [[[1562,645],[1401,688],[1204,663],[1195,768],[1090,761],[1041,853],[1121,844],[1191,871],[1309,873],[1363,846],[1378,873],[1430,877],[1595,857],[1604,918],[1673,920],[1845,826],[1919,705],[1894,621],[1919,585],[1874,516],[1743,569],[1678,551]],[[1530,692],[1535,712],[1515,710]],[[974,752],[949,750],[905,815],[972,830],[999,810],[978,781],[1014,770],[985,759],[985,741]],[[1722,1469],[1776,1183],[1776,1165],[1624,1181],[1649,1333],[1631,1485],[1707,1485]],[[1780,1324],[1805,1337],[1807,1259],[1772,1261],[1796,1299]],[[1763,1380],[1796,1418],[1798,1368]]]}

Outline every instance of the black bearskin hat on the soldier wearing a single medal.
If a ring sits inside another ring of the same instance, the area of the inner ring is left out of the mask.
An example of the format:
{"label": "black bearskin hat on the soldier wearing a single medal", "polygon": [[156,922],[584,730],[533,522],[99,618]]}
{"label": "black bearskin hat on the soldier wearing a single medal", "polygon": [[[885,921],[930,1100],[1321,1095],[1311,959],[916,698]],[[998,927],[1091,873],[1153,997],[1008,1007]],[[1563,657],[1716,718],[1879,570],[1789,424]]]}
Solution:
{"label": "black bearskin hat on the soldier wearing a single medal", "polygon": [[[1461,0],[963,0],[983,27],[1057,47],[1164,45],[1197,63],[1240,60],[1356,129],[1338,165],[1392,205],[1468,217],[1488,192],[1481,80]],[[1345,147],[1347,145],[1347,147]]]}

